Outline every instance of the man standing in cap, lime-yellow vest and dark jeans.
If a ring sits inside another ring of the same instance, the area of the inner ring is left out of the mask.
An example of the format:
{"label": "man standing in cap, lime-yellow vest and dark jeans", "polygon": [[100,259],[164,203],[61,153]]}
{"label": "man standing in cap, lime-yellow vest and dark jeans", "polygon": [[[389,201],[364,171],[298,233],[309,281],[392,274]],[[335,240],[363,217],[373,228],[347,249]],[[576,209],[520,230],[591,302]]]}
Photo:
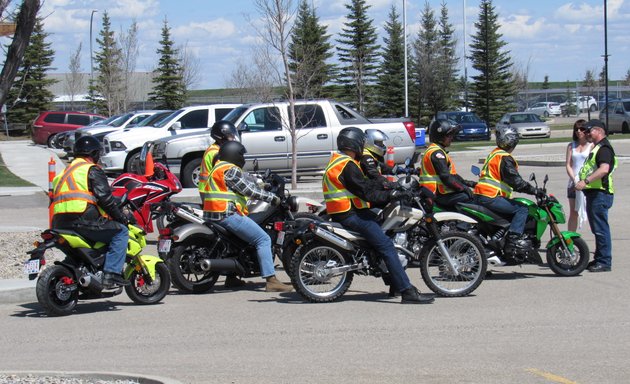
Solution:
{"label": "man standing in cap, lime-yellow vest and dark jeans", "polygon": [[575,185],[586,196],[586,215],[595,236],[594,260],[591,272],[609,272],[612,267],[612,240],[608,224],[608,210],[613,205],[615,189],[612,174],[617,169],[615,150],[606,138],[607,131],[600,120],[589,120],[586,133],[595,147],[580,169]]}

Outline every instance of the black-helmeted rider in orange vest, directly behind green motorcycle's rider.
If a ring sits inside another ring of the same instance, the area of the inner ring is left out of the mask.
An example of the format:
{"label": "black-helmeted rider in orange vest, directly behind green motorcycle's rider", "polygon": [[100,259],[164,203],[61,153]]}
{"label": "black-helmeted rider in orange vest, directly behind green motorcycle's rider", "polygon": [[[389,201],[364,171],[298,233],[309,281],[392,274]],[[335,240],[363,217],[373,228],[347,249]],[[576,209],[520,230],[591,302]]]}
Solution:
{"label": "black-helmeted rider in orange vest, directly behind green motorcycle's rider", "polygon": [[446,150],[459,129],[448,120],[433,121],[429,126],[431,144],[420,163],[420,183],[435,194],[438,205],[447,209],[454,208],[459,202],[471,202],[473,193],[470,188],[477,184],[457,174],[455,163]]}

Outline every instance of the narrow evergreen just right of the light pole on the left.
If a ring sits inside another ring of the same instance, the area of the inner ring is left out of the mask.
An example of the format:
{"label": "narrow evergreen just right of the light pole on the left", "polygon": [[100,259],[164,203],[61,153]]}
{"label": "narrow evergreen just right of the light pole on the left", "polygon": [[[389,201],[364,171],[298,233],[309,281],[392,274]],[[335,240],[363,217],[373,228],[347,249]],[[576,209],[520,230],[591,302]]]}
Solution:
{"label": "narrow evergreen just right of the light pole on the left", "polygon": [[125,93],[122,51],[111,29],[107,11],[103,13],[103,26],[96,38],[99,50],[94,54],[97,76],[90,80],[88,99],[93,110],[112,116],[122,111]]}

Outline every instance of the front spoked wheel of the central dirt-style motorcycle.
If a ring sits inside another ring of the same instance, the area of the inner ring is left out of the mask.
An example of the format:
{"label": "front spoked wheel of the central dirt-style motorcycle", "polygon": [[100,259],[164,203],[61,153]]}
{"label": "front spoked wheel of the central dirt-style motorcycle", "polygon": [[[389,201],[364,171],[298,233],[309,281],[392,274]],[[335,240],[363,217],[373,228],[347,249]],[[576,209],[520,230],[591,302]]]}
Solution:
{"label": "front spoked wheel of the central dirt-style motorcycle", "polygon": [[475,237],[464,232],[448,232],[441,237],[456,273],[442,256],[437,242],[431,241],[421,250],[422,279],[440,296],[466,296],[477,289],[486,275],[488,264],[483,246]]}

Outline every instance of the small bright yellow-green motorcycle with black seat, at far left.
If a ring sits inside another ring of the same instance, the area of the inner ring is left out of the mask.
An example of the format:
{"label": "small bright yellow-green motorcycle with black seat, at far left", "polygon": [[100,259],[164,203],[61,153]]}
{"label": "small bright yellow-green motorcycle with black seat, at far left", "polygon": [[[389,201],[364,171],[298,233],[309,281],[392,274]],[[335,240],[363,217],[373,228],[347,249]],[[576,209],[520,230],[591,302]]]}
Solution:
{"label": "small bright yellow-green motorcycle with black seat, at far left", "polygon": [[[123,205],[125,196],[123,196]],[[130,218],[131,219],[131,218]],[[136,304],[155,304],[169,291],[171,279],[162,260],[141,254],[146,245],[146,233],[133,224],[128,225],[126,266],[123,278],[131,282],[125,286],[127,296]],[[107,245],[93,242],[73,230],[47,229],[41,233],[42,242],[28,251],[30,259],[24,271],[30,280],[37,279],[37,301],[50,316],[70,315],[79,300],[107,298],[122,293],[122,287],[106,289],[102,285],[103,264]],[[40,270],[46,264],[45,252],[56,248],[65,259]]]}

